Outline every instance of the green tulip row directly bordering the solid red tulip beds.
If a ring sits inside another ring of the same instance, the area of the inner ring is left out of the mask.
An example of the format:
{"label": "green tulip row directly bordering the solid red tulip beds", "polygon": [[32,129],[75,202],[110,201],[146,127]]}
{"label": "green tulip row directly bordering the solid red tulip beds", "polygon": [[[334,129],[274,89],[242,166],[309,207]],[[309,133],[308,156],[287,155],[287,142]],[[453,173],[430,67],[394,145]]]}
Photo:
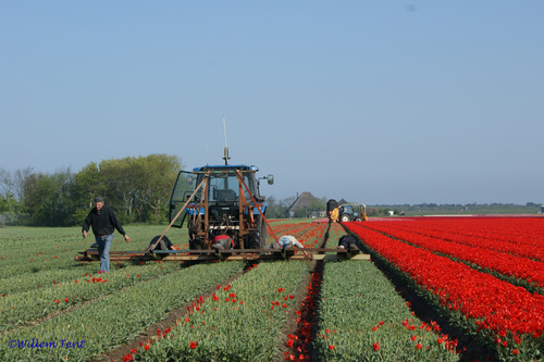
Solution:
{"label": "green tulip row directly bordering the solid red tulip beds", "polygon": [[[371,263],[325,263],[316,348],[326,361],[457,361],[457,341],[410,312]],[[408,303],[409,304],[409,303]]]}

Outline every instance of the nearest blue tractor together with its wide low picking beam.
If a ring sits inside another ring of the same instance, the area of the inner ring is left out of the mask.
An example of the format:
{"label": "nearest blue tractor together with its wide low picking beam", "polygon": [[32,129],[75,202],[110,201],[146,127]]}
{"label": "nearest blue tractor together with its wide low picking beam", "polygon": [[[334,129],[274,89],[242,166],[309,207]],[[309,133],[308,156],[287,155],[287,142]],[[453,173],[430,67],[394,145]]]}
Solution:
{"label": "nearest blue tractor together with its wide low picking beam", "polygon": [[[110,251],[110,261],[231,261],[231,260],[369,260],[358,249],[282,248],[267,221],[267,203],[259,179],[273,184],[273,176],[258,178],[256,166],[224,165],[180,172],[170,200],[170,224],[145,250]],[[188,249],[174,250],[165,236],[171,227],[187,225]],[[267,227],[275,248],[267,245]],[[334,253],[326,253],[334,252]],[[99,260],[87,249],[76,261]]]}

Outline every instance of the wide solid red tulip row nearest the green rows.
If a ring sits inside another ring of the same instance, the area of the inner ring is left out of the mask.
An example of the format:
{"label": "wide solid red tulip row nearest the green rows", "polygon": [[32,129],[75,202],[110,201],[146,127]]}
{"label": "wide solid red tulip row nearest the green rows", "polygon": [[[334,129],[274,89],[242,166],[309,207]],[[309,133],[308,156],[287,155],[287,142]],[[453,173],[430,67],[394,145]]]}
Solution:
{"label": "wide solid red tulip row nearest the green rows", "polygon": [[500,355],[528,358],[543,349],[544,296],[531,295],[466,264],[370,230],[360,223],[349,223],[347,227],[434,296],[441,305],[460,312],[463,317],[458,323],[494,341]]}

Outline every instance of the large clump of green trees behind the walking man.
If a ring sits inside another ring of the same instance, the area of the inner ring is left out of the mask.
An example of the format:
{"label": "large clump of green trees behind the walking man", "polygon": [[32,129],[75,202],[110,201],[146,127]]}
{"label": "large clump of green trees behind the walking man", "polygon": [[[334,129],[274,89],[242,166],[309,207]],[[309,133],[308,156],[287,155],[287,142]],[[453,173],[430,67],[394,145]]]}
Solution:
{"label": "large clump of green trees behind the walking man", "polygon": [[0,225],[81,225],[102,196],[122,223],[162,223],[182,161],[176,155],[106,160],[77,173],[0,168]]}

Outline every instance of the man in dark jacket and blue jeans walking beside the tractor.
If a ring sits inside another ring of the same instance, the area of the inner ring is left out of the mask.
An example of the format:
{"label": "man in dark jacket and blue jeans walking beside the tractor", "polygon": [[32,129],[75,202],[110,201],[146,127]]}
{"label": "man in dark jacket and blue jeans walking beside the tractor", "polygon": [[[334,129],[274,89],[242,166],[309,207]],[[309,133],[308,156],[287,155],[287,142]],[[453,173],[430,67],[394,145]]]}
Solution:
{"label": "man in dark jacket and blue jeans walking beside the tractor", "polygon": [[100,257],[100,272],[107,273],[110,271],[110,248],[113,241],[113,232],[118,232],[123,235],[125,241],[131,241],[128,235],[126,235],[123,226],[118,221],[113,209],[104,207],[103,199],[101,197],[95,198],[95,208],[90,210],[89,214],[83,222],[83,237],[87,237],[87,232],[89,227],[92,227],[92,233],[95,234],[95,240],[98,244],[98,254]]}

